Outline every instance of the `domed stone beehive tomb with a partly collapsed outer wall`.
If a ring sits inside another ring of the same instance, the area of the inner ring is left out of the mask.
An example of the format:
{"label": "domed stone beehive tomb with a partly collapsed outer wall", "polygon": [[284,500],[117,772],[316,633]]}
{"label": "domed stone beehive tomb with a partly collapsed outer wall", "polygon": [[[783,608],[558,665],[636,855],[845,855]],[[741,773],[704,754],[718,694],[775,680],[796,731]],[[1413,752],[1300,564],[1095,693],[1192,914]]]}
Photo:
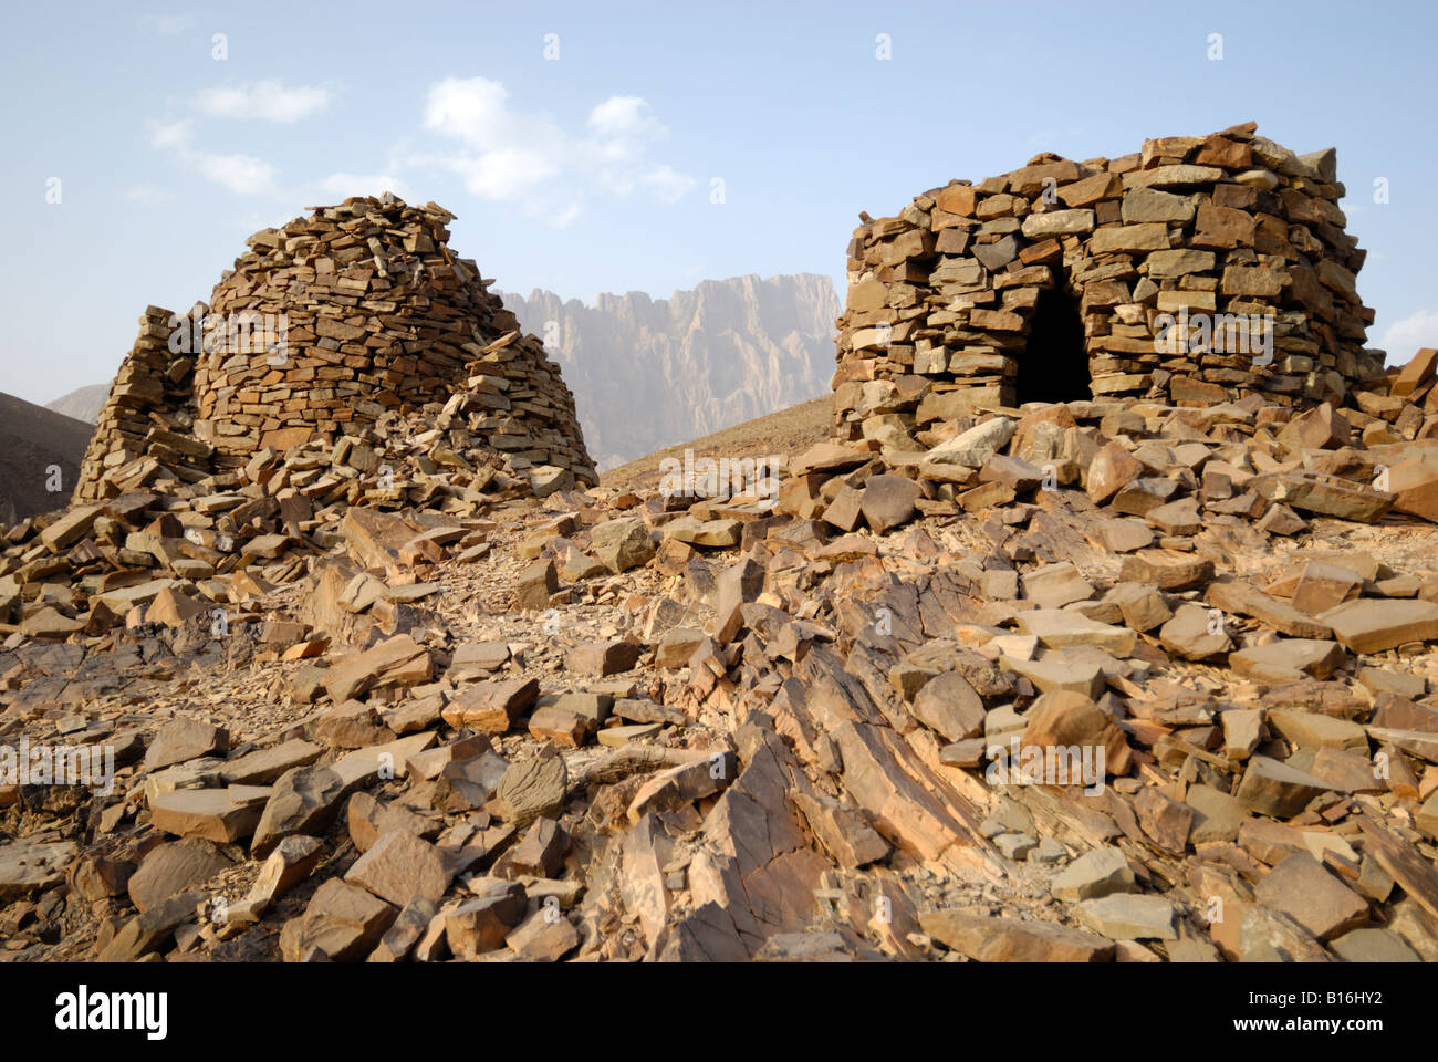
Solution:
{"label": "domed stone beehive tomb with a partly collapsed outer wall", "polygon": [[349,199],[247,240],[188,317],[150,307],[101,410],[76,501],[194,482],[257,452],[341,442],[390,413],[466,417],[508,472],[597,484],[538,338],[449,246],[430,203]]}

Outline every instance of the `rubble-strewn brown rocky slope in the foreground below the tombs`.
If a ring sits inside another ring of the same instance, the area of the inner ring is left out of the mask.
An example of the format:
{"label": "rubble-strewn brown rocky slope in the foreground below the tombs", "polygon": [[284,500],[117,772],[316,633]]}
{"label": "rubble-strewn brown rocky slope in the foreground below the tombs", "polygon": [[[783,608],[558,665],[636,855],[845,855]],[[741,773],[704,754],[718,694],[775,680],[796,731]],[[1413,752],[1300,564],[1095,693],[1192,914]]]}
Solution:
{"label": "rubble-strewn brown rocky slope in the foreground below the tombs", "polygon": [[772,499],[385,423],[433,481],[26,521],[0,963],[1435,961],[1435,396],[985,410]]}

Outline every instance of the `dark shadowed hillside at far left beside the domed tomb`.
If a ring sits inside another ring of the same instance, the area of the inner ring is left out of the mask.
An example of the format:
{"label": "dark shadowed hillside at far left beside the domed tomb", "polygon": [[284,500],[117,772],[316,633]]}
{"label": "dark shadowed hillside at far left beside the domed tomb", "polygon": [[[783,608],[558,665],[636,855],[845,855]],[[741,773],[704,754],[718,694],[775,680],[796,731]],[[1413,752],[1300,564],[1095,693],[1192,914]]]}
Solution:
{"label": "dark shadowed hillside at far left beside the domed tomb", "polygon": [[0,524],[69,502],[91,432],[73,417],[0,394]]}

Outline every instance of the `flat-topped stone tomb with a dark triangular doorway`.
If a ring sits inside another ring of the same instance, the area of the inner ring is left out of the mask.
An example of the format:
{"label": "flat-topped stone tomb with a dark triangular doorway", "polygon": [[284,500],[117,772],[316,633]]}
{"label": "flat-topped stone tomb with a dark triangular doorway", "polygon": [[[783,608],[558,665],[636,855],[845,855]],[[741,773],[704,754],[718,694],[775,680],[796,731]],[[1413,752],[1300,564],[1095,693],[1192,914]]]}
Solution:
{"label": "flat-topped stone tomb with a dark triangular doorway", "polygon": [[903,436],[975,406],[1145,397],[1342,404],[1382,371],[1336,153],[1247,124],[1137,154],[1053,154],[952,181],[848,245],[840,435]]}

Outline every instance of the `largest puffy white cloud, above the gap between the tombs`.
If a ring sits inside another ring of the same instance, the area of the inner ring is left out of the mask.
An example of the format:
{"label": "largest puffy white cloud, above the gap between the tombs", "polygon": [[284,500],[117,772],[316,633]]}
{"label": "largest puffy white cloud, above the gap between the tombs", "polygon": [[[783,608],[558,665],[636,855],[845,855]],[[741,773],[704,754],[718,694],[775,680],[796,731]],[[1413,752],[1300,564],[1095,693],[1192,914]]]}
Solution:
{"label": "largest puffy white cloud, above the gap between the tombs", "polygon": [[521,203],[557,227],[574,222],[595,193],[643,190],[673,203],[695,186],[693,177],[649,160],[650,145],[669,130],[640,96],[610,96],[590,111],[582,132],[569,134],[549,115],[513,109],[498,81],[446,78],[430,85],[423,127],[462,147],[410,155],[410,164],[450,170],[470,194]]}

